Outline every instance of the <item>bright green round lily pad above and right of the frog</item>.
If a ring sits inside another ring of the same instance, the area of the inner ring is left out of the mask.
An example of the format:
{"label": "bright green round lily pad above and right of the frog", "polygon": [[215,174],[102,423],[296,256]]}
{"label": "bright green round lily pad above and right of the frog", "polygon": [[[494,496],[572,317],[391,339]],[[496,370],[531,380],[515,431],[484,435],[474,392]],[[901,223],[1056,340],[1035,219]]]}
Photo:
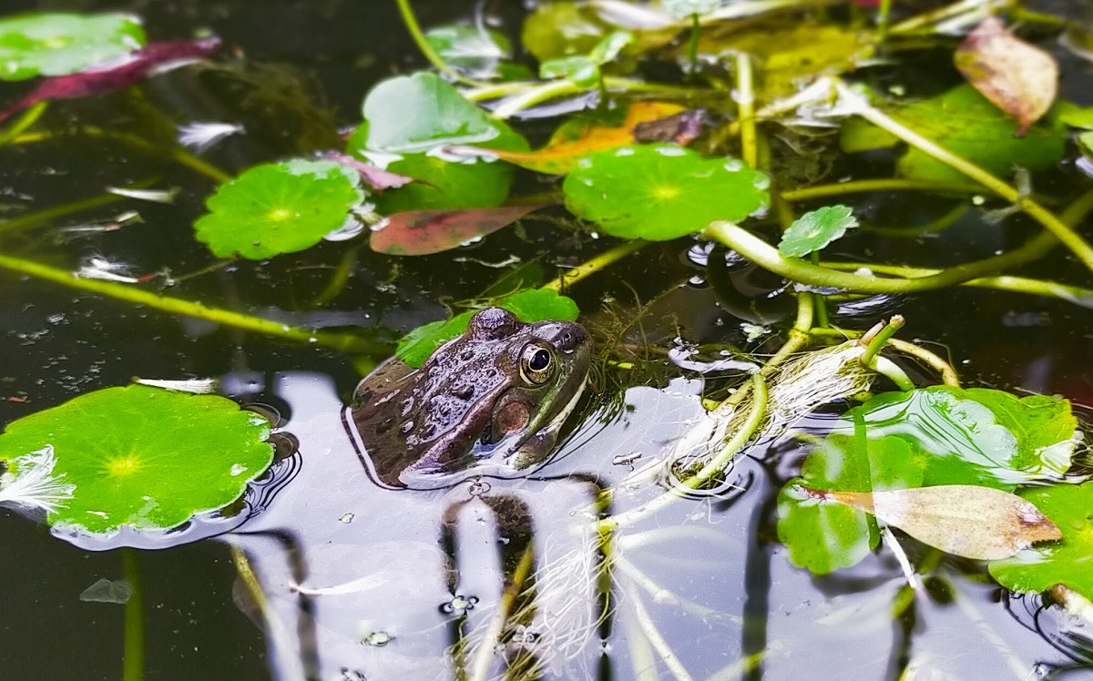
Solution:
{"label": "bright green round lily pad above and right of the frog", "polygon": [[613,236],[668,240],[715,220],[766,209],[769,179],[737,158],[673,144],[620,146],[577,162],[563,184],[569,212]]}

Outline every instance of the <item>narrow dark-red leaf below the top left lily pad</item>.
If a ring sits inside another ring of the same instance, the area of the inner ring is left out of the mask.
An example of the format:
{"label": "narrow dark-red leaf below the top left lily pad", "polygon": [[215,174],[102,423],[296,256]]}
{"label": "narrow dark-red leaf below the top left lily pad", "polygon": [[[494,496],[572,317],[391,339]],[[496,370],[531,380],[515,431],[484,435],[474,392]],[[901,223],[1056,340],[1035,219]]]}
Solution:
{"label": "narrow dark-red leaf below the top left lily pad", "polygon": [[38,84],[31,94],[12,106],[0,110],[0,120],[26,107],[47,99],[72,99],[87,95],[128,87],[162,72],[191,63],[215,51],[220,38],[213,36],[196,40],[164,40],[152,43],[121,59],[92,67],[79,73],[51,75]]}

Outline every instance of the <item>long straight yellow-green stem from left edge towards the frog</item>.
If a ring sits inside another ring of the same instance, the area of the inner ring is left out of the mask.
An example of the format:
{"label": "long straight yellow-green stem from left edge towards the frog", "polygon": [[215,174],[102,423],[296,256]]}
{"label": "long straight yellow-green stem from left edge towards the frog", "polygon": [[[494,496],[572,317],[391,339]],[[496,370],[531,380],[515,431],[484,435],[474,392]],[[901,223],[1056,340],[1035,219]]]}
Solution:
{"label": "long straight yellow-green stem from left edge towards the frog", "polygon": [[128,303],[146,305],[153,309],[207,319],[226,326],[273,336],[299,343],[316,343],[327,348],[333,348],[343,352],[361,352],[365,354],[386,354],[390,348],[386,343],[352,336],[349,333],[331,333],[328,331],[307,331],[289,326],[280,321],[251,317],[242,313],[232,312],[219,307],[209,307],[201,303],[184,301],[164,295],[157,295],[150,291],[143,291],[129,284],[120,284],[113,281],[102,281],[97,279],[83,279],[75,277],[67,270],[39,265],[22,258],[0,255],[0,269],[28,274],[37,279],[51,281],[70,289],[79,289],[98,295],[105,295]]}

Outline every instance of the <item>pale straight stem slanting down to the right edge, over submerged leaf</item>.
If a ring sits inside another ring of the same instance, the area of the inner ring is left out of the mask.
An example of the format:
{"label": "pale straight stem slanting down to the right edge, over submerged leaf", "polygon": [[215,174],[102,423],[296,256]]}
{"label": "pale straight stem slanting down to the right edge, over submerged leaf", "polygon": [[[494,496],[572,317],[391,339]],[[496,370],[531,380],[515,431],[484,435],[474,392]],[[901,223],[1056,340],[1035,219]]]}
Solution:
{"label": "pale straight stem slanting down to the right edge, over submerged leaf", "polygon": [[928,140],[910,128],[891,118],[880,109],[869,104],[863,96],[847,87],[842,81],[835,80],[834,82],[841,97],[845,97],[847,101],[856,103],[854,110],[858,116],[861,116],[878,128],[891,132],[919,151],[933,156],[941,163],[960,171],[1001,198],[1019,207],[1025,214],[1050,232],[1055,238],[1059,239],[1063,246],[1069,248],[1070,251],[1073,253],[1090,271],[1093,271],[1093,247],[1086,244],[1077,232],[1067,226],[1050,211],[1029,197],[1021,196],[1021,191],[1019,189],[1007,185],[1004,181],[998,179],[974,163],[971,163],[949,150],[939,146],[932,140]]}

